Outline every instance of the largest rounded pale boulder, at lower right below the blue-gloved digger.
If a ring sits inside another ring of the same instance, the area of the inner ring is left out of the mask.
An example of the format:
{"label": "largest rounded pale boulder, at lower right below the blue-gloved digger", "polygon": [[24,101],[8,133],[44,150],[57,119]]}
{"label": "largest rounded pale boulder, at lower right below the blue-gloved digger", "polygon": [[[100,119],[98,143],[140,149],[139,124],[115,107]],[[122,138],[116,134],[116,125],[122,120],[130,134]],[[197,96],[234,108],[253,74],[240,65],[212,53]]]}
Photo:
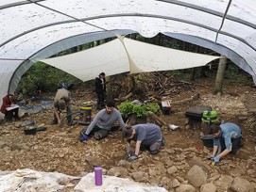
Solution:
{"label": "largest rounded pale boulder, at lower right below the blue-gloved digger", "polygon": [[188,181],[194,186],[201,186],[207,183],[207,173],[198,166],[193,166],[188,171]]}

